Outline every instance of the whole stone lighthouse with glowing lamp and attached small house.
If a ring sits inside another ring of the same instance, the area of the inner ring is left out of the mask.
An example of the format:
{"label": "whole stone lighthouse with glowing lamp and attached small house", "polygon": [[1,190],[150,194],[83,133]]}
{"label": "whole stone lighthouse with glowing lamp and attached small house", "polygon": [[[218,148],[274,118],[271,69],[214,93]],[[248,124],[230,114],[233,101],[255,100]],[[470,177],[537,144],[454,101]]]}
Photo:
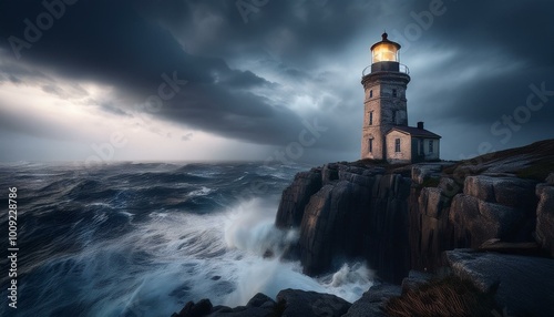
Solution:
{"label": "whole stone lighthouse with glowing lamp and attached small house", "polygon": [[361,158],[389,163],[439,160],[441,136],[408,125],[406,91],[410,82],[408,67],[400,63],[401,45],[383,33],[370,48],[371,65],[362,72],[365,90]]}

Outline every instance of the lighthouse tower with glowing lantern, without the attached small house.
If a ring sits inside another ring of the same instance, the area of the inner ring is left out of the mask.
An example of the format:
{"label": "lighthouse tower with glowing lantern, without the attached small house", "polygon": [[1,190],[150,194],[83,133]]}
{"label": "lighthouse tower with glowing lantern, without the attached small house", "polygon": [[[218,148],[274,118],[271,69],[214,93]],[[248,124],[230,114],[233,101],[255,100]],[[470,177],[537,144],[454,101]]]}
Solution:
{"label": "lighthouse tower with glowing lantern, without the attached small house", "polygon": [[394,126],[408,126],[406,89],[410,75],[400,64],[400,44],[387,37],[383,33],[382,40],[371,47],[371,65],[362,72],[361,158],[387,160],[387,151],[394,151],[394,144],[386,144],[386,134]]}

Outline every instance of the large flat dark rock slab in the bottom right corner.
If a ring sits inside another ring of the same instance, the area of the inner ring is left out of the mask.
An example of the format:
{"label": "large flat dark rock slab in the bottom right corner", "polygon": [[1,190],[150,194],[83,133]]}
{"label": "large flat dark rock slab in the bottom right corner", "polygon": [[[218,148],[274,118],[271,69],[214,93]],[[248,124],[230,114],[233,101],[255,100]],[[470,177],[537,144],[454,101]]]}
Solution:
{"label": "large flat dark rock slab in the bottom right corner", "polygon": [[482,292],[497,288],[496,303],[509,316],[554,316],[554,259],[469,249],[445,257],[455,275]]}

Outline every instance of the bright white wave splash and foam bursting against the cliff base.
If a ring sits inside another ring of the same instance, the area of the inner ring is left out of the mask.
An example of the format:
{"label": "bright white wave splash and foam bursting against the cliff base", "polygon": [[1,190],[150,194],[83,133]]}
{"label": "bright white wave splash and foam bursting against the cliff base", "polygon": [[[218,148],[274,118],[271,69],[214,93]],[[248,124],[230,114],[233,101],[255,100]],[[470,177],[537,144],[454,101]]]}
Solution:
{"label": "bright white wave splash and foam bursting against the cliff base", "polygon": [[[299,263],[279,260],[279,255],[298,238],[298,234],[277,229],[274,217],[275,212],[267,212],[259,200],[245,202],[232,211],[225,229],[227,245],[247,252],[249,256],[236,264],[236,289],[226,297],[226,305],[245,305],[256,293],[275,298],[285,288],[329,293],[355,301],[372,285],[371,272],[361,264],[345,264],[332,276],[314,279],[301,274]],[[271,259],[260,257],[267,250],[275,255]]]}

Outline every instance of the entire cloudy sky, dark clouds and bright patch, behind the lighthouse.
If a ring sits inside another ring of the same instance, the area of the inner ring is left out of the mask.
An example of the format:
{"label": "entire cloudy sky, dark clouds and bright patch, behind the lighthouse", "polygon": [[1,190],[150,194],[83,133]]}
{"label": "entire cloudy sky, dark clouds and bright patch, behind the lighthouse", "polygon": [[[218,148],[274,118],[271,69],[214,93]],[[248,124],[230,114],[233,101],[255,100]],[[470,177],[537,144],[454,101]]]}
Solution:
{"label": "entire cloudy sky, dark clouds and bright patch, behind the lighthouse", "polygon": [[2,0],[0,162],[356,161],[386,30],[460,160],[554,137],[550,0]]}

